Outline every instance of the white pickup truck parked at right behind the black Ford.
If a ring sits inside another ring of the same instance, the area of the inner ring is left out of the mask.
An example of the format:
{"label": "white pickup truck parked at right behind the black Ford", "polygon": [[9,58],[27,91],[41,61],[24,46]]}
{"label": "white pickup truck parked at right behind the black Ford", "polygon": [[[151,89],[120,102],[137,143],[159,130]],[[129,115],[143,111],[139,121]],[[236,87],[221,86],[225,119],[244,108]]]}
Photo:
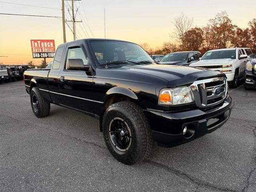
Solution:
{"label": "white pickup truck parked at right behind the black Ford", "polygon": [[198,62],[189,66],[219,70],[226,74],[228,84],[237,87],[239,79],[244,78],[246,63],[252,51],[250,48],[226,48],[206,52]]}

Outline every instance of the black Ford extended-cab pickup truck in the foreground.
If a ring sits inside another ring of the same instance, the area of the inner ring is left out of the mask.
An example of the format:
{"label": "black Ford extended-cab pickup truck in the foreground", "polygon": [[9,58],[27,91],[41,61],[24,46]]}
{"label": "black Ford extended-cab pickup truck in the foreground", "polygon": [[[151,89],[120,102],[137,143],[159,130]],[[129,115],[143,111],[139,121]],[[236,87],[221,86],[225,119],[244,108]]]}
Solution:
{"label": "black Ford extended-cab pickup truck in the foreground", "polygon": [[52,67],[26,70],[24,83],[37,117],[56,104],[99,119],[108,150],[124,164],[144,160],[154,140],[171,147],[216,130],[232,108],[222,72],[159,65],[121,40],[61,44]]}

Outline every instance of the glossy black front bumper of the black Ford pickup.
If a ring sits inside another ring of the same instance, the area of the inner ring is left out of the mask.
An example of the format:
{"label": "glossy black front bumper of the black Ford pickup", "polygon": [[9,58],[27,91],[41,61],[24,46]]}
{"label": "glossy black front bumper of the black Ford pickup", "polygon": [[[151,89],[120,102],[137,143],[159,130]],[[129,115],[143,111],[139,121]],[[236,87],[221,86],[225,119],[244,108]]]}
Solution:
{"label": "glossy black front bumper of the black Ford pickup", "polygon": [[[144,114],[158,145],[172,147],[220,128],[230,116],[231,103],[231,97],[227,96],[222,104],[207,110],[196,109],[172,113],[144,110]],[[184,128],[186,128],[186,133],[183,132]]]}

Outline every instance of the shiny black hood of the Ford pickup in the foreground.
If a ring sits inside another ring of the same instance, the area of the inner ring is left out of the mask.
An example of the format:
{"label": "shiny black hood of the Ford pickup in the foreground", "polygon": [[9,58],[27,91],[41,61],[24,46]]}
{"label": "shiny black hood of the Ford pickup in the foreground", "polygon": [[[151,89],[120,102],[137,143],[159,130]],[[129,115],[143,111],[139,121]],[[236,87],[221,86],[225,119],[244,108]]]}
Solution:
{"label": "shiny black hood of the Ford pickup in the foreground", "polygon": [[143,74],[149,74],[162,78],[168,82],[168,87],[175,87],[184,84],[192,84],[195,80],[200,78],[210,78],[216,76],[225,76],[220,71],[208,70],[203,68],[193,68],[187,66],[178,65],[136,65],[136,66],[124,66],[120,67],[120,70],[126,70],[129,72],[138,72]]}

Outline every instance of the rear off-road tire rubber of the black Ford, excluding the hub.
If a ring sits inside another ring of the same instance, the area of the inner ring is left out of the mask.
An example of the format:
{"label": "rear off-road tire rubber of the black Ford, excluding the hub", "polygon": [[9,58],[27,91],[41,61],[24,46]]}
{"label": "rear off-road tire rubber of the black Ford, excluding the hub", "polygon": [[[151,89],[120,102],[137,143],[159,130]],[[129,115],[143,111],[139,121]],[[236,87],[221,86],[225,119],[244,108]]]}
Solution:
{"label": "rear off-road tire rubber of the black Ford, excluding the hub", "polygon": [[[38,101],[38,108],[37,110],[35,110],[34,106],[33,106],[33,98],[36,98],[36,100]],[[50,102],[44,100],[44,98],[42,97],[38,87],[33,87],[31,92],[30,92],[30,103],[31,103],[31,107],[32,110],[35,114],[35,116],[41,118],[41,117],[46,117],[49,115],[50,113]]]}

